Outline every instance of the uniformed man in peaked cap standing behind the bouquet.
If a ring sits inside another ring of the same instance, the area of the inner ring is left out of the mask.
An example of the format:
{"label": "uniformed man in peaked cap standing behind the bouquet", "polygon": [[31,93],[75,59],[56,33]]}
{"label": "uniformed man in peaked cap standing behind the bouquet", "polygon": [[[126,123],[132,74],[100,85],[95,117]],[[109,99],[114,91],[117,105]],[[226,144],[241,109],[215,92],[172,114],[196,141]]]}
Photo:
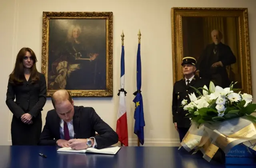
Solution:
{"label": "uniformed man in peaked cap standing behind the bouquet", "polygon": [[[196,96],[199,96],[198,93],[194,90],[195,88],[201,88],[206,85],[209,88],[210,81],[203,80],[195,76],[196,72],[196,59],[193,57],[184,57],[182,59],[182,72],[184,78],[174,83],[173,92],[172,92],[172,116],[173,123],[176,130],[180,136],[180,142],[188,132],[190,128],[190,119],[185,118],[188,111],[184,110],[181,102],[182,100],[187,100],[190,103],[190,98],[188,94],[195,93]],[[198,89],[202,92],[202,89]]]}

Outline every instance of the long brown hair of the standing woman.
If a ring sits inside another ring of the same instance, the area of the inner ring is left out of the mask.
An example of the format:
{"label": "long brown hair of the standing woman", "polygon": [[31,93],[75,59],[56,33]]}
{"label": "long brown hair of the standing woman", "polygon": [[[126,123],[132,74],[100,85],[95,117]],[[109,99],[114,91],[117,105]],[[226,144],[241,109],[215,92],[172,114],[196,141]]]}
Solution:
{"label": "long brown hair of the standing woman", "polygon": [[10,82],[14,84],[20,84],[24,82],[25,76],[24,76],[24,65],[23,65],[23,59],[27,52],[30,52],[31,59],[33,60],[33,66],[31,67],[31,74],[30,78],[32,79],[32,82],[35,82],[39,80],[39,74],[36,69],[36,54],[31,48],[23,47],[20,49],[20,51],[17,54],[15,67],[12,73],[10,74]]}

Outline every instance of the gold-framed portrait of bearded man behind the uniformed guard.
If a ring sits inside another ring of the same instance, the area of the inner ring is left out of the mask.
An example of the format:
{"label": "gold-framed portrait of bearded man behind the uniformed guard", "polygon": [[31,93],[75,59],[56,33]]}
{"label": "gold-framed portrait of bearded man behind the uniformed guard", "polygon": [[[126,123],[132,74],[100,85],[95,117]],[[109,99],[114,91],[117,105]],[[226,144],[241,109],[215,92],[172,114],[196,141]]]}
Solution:
{"label": "gold-framed portrait of bearded man behind the uniformed guard", "polygon": [[181,61],[196,58],[196,75],[252,94],[247,8],[172,8],[173,80]]}

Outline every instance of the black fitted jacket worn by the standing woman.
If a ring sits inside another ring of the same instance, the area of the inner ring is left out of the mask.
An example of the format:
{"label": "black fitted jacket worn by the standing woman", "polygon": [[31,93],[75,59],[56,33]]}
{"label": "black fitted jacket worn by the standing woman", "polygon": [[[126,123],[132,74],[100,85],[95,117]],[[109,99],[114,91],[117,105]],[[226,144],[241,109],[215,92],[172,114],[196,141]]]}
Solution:
{"label": "black fitted jacket worn by the standing woman", "polygon": [[16,118],[26,112],[36,118],[43,110],[46,103],[46,80],[44,74],[39,74],[40,78],[36,82],[32,82],[31,78],[19,85],[8,82],[6,105]]}

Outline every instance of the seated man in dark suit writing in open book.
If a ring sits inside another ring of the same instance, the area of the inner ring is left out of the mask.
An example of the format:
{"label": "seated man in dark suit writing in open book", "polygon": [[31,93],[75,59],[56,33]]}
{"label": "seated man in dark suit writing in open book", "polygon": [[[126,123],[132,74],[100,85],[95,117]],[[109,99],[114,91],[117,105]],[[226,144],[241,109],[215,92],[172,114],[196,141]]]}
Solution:
{"label": "seated man in dark suit writing in open book", "polygon": [[[48,111],[39,145],[58,145],[74,150],[106,148],[118,142],[116,132],[92,107],[74,106],[67,90],[52,95],[53,110]],[[96,136],[95,132],[99,135]]]}

